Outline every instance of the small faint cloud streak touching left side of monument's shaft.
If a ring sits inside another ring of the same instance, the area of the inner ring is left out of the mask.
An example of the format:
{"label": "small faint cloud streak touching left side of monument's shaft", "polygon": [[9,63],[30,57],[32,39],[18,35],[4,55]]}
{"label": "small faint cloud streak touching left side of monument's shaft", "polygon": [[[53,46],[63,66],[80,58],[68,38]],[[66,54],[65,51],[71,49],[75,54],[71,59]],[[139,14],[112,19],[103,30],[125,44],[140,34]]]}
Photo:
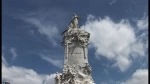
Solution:
{"label": "small faint cloud streak touching left side of monument's shaft", "polygon": [[63,61],[62,60],[52,59],[52,58],[47,57],[47,56],[42,55],[42,54],[41,54],[41,58],[43,60],[48,61],[49,63],[51,63],[52,65],[54,65],[56,67],[62,68],[62,65],[63,65]]}

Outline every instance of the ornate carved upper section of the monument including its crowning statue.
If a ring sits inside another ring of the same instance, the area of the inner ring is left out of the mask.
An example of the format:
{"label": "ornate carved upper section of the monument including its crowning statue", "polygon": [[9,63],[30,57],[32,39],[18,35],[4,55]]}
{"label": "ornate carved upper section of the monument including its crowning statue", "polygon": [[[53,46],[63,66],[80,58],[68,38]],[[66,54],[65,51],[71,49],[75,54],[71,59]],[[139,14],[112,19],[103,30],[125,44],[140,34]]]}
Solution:
{"label": "ornate carved upper section of the monument including its crowning statue", "polygon": [[[77,16],[75,13],[74,13],[74,16],[72,17],[72,20],[70,22],[69,25],[67,25],[67,30],[65,30],[62,34],[65,33],[64,37],[63,37],[63,41],[62,43],[65,43],[65,45],[67,45],[68,43],[72,43],[72,42],[79,42],[81,46],[83,47],[86,47],[88,44],[89,44],[89,37],[88,38],[83,38],[82,36],[80,36],[80,30],[78,29],[79,28],[79,25],[78,25],[78,20],[80,20],[81,17],[80,16]],[[74,29],[77,31],[77,32],[74,32],[72,33],[71,31],[74,31]],[[67,38],[67,35],[71,35],[71,38],[68,39]],[[88,33],[88,36],[89,36],[89,33]]]}

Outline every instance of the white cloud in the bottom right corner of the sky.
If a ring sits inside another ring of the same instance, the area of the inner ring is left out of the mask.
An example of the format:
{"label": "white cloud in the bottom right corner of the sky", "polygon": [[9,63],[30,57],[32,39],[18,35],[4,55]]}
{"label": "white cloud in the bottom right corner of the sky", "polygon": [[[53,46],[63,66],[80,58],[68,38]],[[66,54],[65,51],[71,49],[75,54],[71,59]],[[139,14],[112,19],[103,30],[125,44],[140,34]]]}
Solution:
{"label": "white cloud in the bottom right corner of the sky", "polygon": [[138,69],[132,77],[121,84],[148,84],[148,70]]}

